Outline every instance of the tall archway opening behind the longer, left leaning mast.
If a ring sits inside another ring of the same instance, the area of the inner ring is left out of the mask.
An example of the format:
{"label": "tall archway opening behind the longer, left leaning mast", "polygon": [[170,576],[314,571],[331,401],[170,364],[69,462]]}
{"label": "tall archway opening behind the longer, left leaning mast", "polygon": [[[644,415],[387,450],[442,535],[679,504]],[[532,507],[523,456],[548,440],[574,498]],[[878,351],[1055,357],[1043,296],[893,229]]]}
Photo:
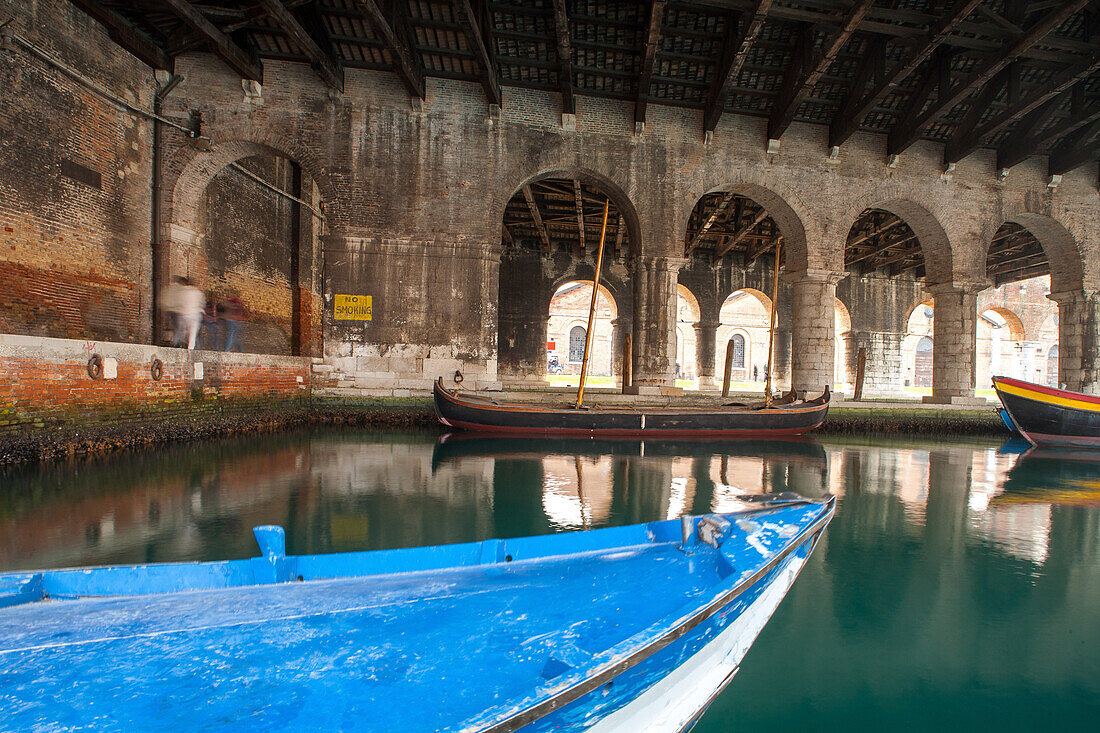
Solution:
{"label": "tall archway opening behind the longer, left leaning mast", "polygon": [[[623,321],[629,320],[630,310],[627,300],[620,318],[618,298],[609,285],[618,278],[622,293],[626,263],[636,244],[637,217],[623,192],[606,180],[583,171],[552,172],[522,183],[503,210],[497,287],[497,373],[502,382],[543,382],[553,355],[562,373],[580,372],[580,364],[568,359],[568,329],[560,330],[565,328],[564,321],[550,324],[548,314],[552,300],[564,298],[586,322],[588,304],[584,298],[592,294],[605,205],[608,217],[600,293],[606,299],[603,313],[613,313],[614,322],[602,321],[595,329],[598,357],[593,354],[588,373],[597,381],[617,373],[623,335],[629,331]],[[581,282],[587,286],[568,289]],[[583,315],[580,300],[584,300]],[[551,342],[554,348],[548,349]]]}

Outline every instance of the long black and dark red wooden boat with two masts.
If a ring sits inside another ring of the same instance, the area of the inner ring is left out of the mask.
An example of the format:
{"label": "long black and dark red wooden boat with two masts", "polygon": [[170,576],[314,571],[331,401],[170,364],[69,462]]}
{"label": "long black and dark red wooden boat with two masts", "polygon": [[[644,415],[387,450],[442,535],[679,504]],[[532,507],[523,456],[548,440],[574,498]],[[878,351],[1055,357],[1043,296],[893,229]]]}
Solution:
{"label": "long black and dark red wooden boat with two masts", "polygon": [[436,382],[439,422],[463,430],[578,437],[767,438],[801,435],[828,414],[829,390],[815,400],[770,405],[541,405],[452,392]]}

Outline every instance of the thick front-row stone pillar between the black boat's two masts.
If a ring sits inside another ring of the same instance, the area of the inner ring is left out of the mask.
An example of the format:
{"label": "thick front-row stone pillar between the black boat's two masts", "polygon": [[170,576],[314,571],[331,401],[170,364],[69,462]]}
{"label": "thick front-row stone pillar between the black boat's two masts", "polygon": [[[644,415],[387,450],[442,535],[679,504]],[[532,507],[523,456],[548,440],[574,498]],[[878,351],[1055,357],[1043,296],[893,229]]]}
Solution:
{"label": "thick front-row stone pillar between the black boat's two masts", "polygon": [[684,258],[634,261],[634,384],[675,384],[676,275]]}

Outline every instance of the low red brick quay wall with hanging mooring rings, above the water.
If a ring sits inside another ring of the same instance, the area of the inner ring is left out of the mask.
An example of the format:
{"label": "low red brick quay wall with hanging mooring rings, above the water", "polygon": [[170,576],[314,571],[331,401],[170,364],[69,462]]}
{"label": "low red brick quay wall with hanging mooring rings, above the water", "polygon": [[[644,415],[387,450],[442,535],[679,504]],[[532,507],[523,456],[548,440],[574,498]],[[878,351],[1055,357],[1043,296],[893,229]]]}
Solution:
{"label": "low red brick quay wall with hanging mooring rings, above the water", "polygon": [[[107,366],[102,379],[88,373],[92,354]],[[154,358],[163,364],[160,381],[151,371]],[[195,420],[304,405],[309,368],[307,358],[0,336],[0,441],[75,428],[194,427]]]}

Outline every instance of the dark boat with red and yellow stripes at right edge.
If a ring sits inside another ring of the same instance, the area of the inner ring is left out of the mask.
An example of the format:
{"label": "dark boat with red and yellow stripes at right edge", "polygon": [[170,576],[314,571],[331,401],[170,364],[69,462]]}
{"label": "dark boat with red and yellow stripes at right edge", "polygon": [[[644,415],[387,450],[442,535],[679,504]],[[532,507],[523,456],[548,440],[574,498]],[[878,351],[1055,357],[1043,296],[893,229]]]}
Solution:
{"label": "dark boat with red and yellow stripes at right edge", "polygon": [[1034,446],[1100,447],[1100,397],[1009,376],[993,389],[1012,425]]}

